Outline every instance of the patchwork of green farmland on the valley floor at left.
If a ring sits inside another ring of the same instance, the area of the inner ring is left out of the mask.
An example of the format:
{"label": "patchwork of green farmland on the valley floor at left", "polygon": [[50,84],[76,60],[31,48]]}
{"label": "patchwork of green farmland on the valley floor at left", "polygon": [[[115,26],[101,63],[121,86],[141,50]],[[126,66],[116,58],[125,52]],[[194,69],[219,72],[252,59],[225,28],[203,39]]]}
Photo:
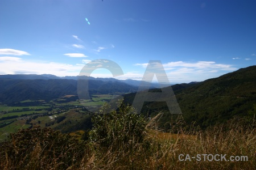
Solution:
{"label": "patchwork of green farmland on the valley floor at left", "polygon": [[[89,112],[88,109],[95,111],[114,97],[117,95],[92,95],[91,100],[79,100],[77,96],[66,95],[48,102],[25,100],[12,105],[0,105],[0,141],[6,140],[10,133],[36,125],[42,128],[56,128],[64,126],[61,125],[64,122],[75,124],[85,117],[85,114]],[[36,105],[31,105],[31,103],[36,103]]]}

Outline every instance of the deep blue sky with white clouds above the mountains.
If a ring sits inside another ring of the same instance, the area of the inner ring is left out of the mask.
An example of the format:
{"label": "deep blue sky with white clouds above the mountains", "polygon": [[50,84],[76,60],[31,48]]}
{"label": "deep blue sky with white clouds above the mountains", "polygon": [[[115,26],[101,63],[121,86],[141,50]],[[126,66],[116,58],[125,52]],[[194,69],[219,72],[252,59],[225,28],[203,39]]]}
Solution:
{"label": "deep blue sky with white clouds above the mountains", "polygon": [[1,0],[0,74],[76,76],[106,59],[141,80],[158,60],[171,84],[203,81],[255,65],[255,30],[249,0]]}

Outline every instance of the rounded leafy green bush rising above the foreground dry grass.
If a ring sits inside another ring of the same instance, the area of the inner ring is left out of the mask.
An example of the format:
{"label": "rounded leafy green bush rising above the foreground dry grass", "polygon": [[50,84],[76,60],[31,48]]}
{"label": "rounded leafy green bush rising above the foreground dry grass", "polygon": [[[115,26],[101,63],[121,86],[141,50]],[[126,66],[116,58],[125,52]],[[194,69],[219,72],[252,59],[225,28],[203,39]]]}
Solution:
{"label": "rounded leafy green bush rising above the foreground dry grass", "polygon": [[102,147],[127,150],[143,141],[146,120],[134,108],[121,102],[117,111],[108,112],[110,105],[104,104],[100,112],[94,115],[93,128],[89,133],[90,142],[96,142]]}

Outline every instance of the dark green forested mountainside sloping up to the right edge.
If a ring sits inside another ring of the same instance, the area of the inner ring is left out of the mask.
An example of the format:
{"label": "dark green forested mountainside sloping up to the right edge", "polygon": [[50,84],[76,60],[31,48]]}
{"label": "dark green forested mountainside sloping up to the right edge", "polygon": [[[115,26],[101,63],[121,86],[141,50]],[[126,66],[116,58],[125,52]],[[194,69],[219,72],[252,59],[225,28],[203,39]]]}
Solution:
{"label": "dark green forested mountainside sloping up to the right edge", "polygon": [[[193,123],[204,129],[234,116],[250,117],[249,112],[256,105],[255,84],[256,66],[250,66],[204,82],[175,84],[166,88],[174,91],[187,125]],[[159,92],[159,89],[151,92]],[[125,102],[132,104],[134,97],[135,93],[124,95]],[[141,112],[152,117],[160,111],[164,114],[159,126],[170,128],[171,117],[176,115],[170,114],[166,102],[145,102]]]}

